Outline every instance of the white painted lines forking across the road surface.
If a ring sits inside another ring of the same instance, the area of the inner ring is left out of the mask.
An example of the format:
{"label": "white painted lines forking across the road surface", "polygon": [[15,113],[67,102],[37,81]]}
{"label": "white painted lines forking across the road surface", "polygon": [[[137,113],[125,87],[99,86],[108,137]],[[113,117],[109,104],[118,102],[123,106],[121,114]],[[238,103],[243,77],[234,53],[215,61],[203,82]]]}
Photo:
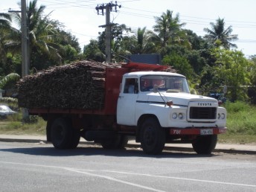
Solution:
{"label": "white painted lines forking across the road surface", "polygon": [[114,170],[83,170],[83,169],[75,169],[71,167],[59,167],[59,166],[50,166],[50,165],[43,165],[43,164],[23,164],[23,163],[16,163],[16,162],[7,162],[7,161],[0,161],[0,163],[4,164],[20,164],[20,165],[27,165],[27,166],[34,166],[34,167],[49,167],[49,168],[57,168],[57,169],[64,169],[64,170],[69,170],[77,173],[83,173],[89,176],[98,176],[104,179],[109,179],[115,182],[121,182],[127,185],[132,185],[136,186],[138,188],[145,188],[150,191],[160,191],[154,188],[148,188],[143,185],[137,185],[132,182],[124,182],[120,179],[115,179],[109,176],[102,176],[94,173],[89,173],[89,172],[106,172],[106,173],[120,173],[120,174],[127,174],[127,175],[135,175],[135,176],[150,176],[150,177],[157,177],[157,178],[165,178],[165,179],[179,179],[179,180],[185,180],[185,181],[191,181],[191,182],[208,182],[208,183],[214,183],[214,184],[222,184],[222,185],[237,185],[237,186],[244,186],[244,187],[252,187],[256,188],[256,185],[247,185],[247,184],[241,184],[241,183],[234,183],[234,182],[216,182],[216,181],[211,181],[211,180],[202,180],[202,179],[188,179],[188,178],[182,178],[182,177],[175,177],[175,176],[156,176],[156,175],[151,175],[151,174],[143,174],[143,173],[128,173],[128,172],[122,172],[122,171],[114,171]]}

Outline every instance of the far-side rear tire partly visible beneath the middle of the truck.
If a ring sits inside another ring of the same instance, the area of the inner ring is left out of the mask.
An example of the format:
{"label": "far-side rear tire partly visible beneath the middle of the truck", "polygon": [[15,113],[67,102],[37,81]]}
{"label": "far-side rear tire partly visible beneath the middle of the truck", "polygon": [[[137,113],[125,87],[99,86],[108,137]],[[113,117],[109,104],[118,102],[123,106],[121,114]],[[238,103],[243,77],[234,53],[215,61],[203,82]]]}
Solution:
{"label": "far-side rear tire partly visible beneath the middle of the truck", "polygon": [[104,139],[100,141],[101,146],[108,150],[124,149],[127,143],[128,137],[125,135],[118,135],[115,139]]}

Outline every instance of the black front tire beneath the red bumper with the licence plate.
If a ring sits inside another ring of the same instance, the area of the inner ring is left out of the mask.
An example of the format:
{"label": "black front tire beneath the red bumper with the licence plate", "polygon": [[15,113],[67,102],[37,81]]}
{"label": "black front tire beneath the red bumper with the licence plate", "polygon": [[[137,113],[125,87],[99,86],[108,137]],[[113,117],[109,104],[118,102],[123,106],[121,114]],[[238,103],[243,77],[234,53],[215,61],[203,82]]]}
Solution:
{"label": "black front tire beneath the red bumper with the licence plate", "polygon": [[193,150],[197,154],[211,154],[217,144],[217,135],[199,135],[192,142]]}

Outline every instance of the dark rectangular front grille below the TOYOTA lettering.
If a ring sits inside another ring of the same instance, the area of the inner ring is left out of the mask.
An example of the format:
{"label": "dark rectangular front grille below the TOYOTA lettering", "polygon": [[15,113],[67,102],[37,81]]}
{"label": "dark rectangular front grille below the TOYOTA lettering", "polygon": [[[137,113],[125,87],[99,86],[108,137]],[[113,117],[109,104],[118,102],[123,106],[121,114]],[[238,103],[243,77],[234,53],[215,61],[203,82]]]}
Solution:
{"label": "dark rectangular front grille below the TOYOTA lettering", "polygon": [[189,111],[190,119],[216,119],[217,108],[216,107],[196,107],[191,106]]}

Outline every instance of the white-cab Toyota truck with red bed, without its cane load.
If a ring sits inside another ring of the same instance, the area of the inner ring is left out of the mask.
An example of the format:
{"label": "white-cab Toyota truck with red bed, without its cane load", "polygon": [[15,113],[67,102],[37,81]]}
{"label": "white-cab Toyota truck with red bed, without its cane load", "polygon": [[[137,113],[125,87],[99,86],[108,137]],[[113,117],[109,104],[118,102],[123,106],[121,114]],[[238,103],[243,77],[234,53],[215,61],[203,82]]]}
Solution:
{"label": "white-cab Toyota truck with red bed, without its cane load", "polygon": [[225,108],[212,97],[192,95],[186,77],[165,68],[132,62],[106,68],[101,109],[37,107],[28,112],[47,121],[47,141],[57,149],[76,148],[80,137],[118,149],[132,138],[151,155],[161,153],[166,143],[191,143],[196,153],[211,153],[217,135],[227,130]]}

